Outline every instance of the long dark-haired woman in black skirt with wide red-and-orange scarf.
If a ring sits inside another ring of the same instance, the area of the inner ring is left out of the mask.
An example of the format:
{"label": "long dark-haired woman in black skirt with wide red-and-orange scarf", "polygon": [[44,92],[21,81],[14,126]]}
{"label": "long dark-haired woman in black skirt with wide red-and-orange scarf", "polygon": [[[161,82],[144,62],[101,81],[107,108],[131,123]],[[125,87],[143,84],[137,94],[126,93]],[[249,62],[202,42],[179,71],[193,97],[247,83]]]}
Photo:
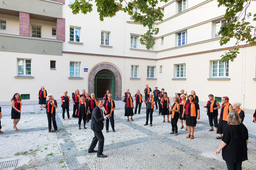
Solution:
{"label": "long dark-haired woman in black skirt with wide red-and-orange scarf", "polygon": [[184,118],[184,116],[186,116],[186,126],[188,128],[188,136],[186,136],[186,138],[194,139],[196,119],[200,119],[200,108],[192,94],[188,96],[188,100],[184,106],[182,118]]}

